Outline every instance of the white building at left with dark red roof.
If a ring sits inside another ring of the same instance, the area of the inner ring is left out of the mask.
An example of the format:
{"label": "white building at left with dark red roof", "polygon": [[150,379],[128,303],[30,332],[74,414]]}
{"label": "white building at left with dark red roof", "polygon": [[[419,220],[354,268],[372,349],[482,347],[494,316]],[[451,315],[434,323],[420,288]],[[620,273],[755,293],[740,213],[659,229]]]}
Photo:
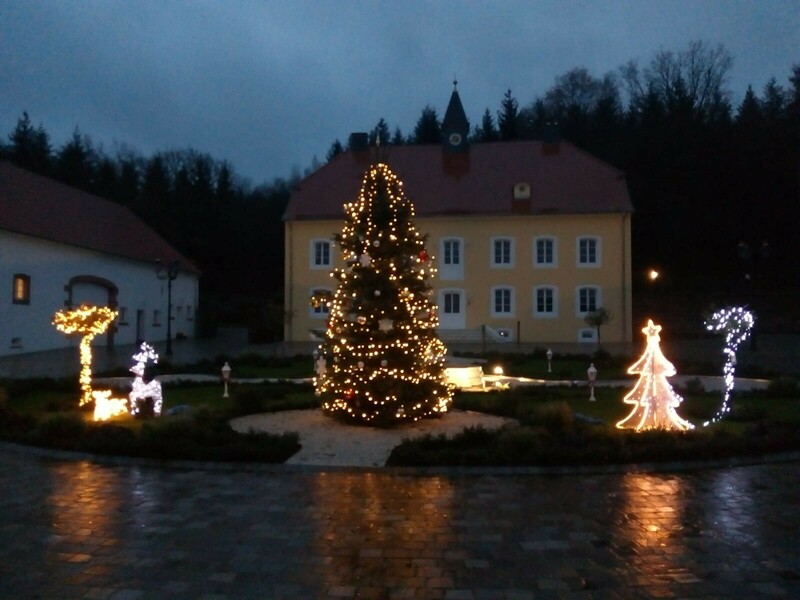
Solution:
{"label": "white building at left with dark red roof", "polygon": [[0,356],[74,346],[52,320],[81,304],[119,313],[97,346],[166,340],[168,312],[193,337],[199,276],[127,208],[0,163]]}

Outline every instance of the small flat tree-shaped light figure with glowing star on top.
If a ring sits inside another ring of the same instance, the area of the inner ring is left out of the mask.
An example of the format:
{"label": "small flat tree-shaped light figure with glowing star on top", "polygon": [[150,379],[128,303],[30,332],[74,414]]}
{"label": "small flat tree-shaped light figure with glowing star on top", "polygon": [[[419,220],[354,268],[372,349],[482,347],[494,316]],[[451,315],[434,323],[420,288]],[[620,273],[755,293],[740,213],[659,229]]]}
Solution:
{"label": "small flat tree-shaped light figure with glowing star on top", "polygon": [[671,362],[661,353],[659,342],[660,325],[648,320],[642,333],[647,336],[647,349],[642,357],[628,368],[630,375],[639,375],[639,381],[623,399],[626,404],[633,404],[631,414],[617,423],[620,429],[673,429],[685,431],[694,426],[684,421],[675,412],[683,402],[667,377],[677,372]]}

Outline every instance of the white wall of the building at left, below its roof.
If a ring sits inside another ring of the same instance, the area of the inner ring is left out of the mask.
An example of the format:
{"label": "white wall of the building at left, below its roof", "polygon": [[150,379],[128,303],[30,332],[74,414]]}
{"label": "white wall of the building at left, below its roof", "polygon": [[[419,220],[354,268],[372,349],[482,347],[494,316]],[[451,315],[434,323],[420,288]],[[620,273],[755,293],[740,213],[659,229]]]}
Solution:
{"label": "white wall of the building at left, below its roof", "polygon": [[[155,257],[154,257],[155,259]],[[14,275],[30,276],[30,304],[13,304]],[[77,276],[92,276],[117,286],[118,306],[126,309],[126,319],[117,323],[114,343],[133,344],[136,340],[137,313],[142,311],[143,340],[167,338],[167,282],[156,277],[153,264],[117,258],[92,250],[40,240],[0,230],[0,356],[74,347],[77,339],[66,336],[52,325],[53,315],[64,309],[68,298],[65,287]],[[73,287],[73,307],[83,302],[105,304],[103,288],[81,283]],[[198,278],[181,272],[172,282],[172,336],[193,337],[198,306]],[[160,311],[160,326],[154,324],[154,311]],[[21,348],[12,348],[20,338]],[[107,336],[98,336],[96,346],[104,346]]]}

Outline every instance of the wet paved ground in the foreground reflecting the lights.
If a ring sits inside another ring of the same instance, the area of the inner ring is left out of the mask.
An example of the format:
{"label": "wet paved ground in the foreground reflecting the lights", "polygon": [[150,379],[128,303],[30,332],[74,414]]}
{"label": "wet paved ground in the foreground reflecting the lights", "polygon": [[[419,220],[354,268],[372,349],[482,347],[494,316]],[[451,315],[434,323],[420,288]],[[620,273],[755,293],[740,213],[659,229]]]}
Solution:
{"label": "wet paved ground in the foreground reflecting the lights", "polygon": [[0,598],[797,598],[800,462],[426,474],[0,446]]}

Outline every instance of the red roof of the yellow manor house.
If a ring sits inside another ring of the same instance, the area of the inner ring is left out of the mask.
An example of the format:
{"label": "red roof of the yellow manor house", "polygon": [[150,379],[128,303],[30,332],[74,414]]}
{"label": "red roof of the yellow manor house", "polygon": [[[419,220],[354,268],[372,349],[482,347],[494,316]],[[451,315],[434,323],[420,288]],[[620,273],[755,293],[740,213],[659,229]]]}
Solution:
{"label": "red roof of the yellow manor house", "polygon": [[[568,142],[473,144],[461,155],[445,154],[438,145],[390,146],[381,152],[381,162],[403,182],[418,217],[512,214],[513,189],[522,182],[531,188],[528,214],[633,211],[624,174]],[[284,220],[342,218],[344,203],[358,195],[374,156],[374,148],[342,153],[301,181]]]}

